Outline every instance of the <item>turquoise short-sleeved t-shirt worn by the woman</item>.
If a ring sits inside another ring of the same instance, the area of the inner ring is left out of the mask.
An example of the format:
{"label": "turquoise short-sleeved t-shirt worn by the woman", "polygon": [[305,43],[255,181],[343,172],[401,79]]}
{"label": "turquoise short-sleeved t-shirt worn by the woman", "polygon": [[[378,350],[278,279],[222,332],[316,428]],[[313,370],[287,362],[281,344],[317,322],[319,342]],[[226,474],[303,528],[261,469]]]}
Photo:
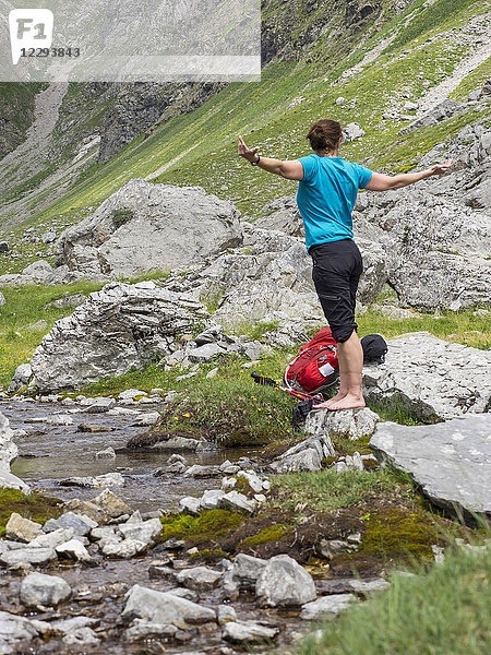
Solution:
{"label": "turquoise short-sleeved t-shirt worn by the woman", "polygon": [[372,171],[343,157],[299,157],[303,179],[297,204],[306,226],[307,250],[316,243],[352,239],[351,212],[358,189],[364,189]]}

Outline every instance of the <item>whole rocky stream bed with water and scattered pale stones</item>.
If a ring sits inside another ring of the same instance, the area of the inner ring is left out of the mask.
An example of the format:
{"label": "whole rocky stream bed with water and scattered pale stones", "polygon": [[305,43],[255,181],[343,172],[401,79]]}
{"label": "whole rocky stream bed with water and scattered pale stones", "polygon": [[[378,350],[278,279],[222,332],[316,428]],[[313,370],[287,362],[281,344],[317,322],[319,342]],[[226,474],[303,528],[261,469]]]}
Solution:
{"label": "whole rocky stream bed with water and scattered pale stones", "polygon": [[[1,401],[19,448],[12,473],[36,493],[71,504],[57,508],[53,515],[62,517],[44,528],[16,514],[7,525],[0,540],[0,653],[227,655],[273,644],[287,648],[312,619],[334,616],[357,596],[387,586],[380,577],[330,580],[327,569],[314,580],[287,555],[239,553],[233,561],[206,562],[182,540],[163,541],[159,517],[179,511],[183,497],[188,503],[202,497],[209,511],[218,507],[227,474],[240,479],[243,471],[252,486],[259,480],[256,502],[266,500],[262,491],[270,484],[254,449],[188,452],[169,463],[170,452],[124,448],[155,420],[156,408],[120,405],[94,414],[79,403]],[[240,501],[231,509],[231,516],[251,513]],[[200,509],[189,512],[199,515]],[[356,544],[359,535],[351,539]],[[125,550],[119,550],[121,541]]]}

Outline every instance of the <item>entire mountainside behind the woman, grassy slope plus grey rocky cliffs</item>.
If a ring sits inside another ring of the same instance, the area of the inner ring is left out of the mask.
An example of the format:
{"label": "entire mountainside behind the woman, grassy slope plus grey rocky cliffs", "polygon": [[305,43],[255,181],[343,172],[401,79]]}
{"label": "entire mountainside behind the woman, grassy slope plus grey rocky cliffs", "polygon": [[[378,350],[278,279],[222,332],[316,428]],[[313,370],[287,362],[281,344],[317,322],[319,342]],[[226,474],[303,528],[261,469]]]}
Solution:
{"label": "entire mountainside behind the woman, grassy slope plus grey rocky cliffs", "polygon": [[[328,115],[364,132],[345,156],[376,168],[414,167],[435,143],[488,116],[469,108],[399,134],[446,97],[466,99],[482,86],[489,76],[488,12],[487,2],[457,0],[272,0],[263,5],[260,83],[51,85],[38,94],[27,140],[2,162],[0,237],[13,252],[1,269],[20,271],[37,253],[49,257],[40,241],[48,227],[59,233],[79,222],[135,177],[200,183],[256,216],[292,187],[236,162],[238,132],[253,131],[265,153],[299,156],[307,151],[306,126]],[[25,122],[24,131],[28,116]],[[27,156],[35,144],[35,155]]]}

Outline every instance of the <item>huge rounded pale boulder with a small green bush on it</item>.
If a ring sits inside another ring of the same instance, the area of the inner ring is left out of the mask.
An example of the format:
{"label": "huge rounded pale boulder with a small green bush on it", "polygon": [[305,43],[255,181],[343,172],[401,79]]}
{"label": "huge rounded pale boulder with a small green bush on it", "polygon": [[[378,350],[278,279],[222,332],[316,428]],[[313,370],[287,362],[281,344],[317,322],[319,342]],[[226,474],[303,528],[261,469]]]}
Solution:
{"label": "huge rounded pale boulder with a small green bush on it", "polygon": [[135,275],[170,271],[216,255],[242,240],[239,212],[201,187],[134,179],[58,239],[58,262],[71,270]]}

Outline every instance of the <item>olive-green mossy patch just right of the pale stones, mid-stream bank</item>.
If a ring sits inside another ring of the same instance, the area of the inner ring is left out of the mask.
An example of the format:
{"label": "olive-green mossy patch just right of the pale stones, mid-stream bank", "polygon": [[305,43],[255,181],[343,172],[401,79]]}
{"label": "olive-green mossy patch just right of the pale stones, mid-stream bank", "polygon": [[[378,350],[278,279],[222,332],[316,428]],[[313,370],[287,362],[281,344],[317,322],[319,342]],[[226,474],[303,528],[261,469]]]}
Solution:
{"label": "olive-green mossy patch just right of the pale stones, mid-stream bank", "polygon": [[190,546],[213,546],[217,544],[217,539],[237,529],[244,520],[239,512],[227,510],[207,510],[197,517],[188,514],[163,516],[160,522],[164,529],[160,540],[176,538],[184,539]]}

